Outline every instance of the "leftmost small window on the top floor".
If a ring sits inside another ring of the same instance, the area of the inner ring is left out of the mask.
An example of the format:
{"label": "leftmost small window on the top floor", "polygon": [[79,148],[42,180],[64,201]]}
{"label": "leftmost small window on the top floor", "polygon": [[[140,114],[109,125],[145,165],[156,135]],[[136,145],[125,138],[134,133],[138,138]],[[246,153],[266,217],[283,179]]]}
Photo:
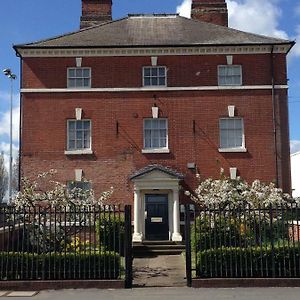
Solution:
{"label": "leftmost small window on the top floor", "polygon": [[68,88],[90,88],[91,68],[68,68]]}

